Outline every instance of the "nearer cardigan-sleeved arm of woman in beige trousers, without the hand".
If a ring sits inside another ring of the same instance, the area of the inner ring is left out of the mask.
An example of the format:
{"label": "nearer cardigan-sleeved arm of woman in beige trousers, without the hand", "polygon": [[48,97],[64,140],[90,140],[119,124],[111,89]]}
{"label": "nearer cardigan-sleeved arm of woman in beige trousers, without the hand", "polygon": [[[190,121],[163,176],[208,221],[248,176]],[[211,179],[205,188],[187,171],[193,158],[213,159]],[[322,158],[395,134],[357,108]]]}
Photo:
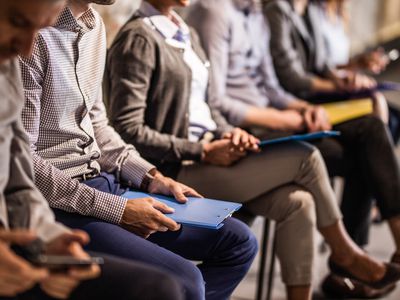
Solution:
{"label": "nearer cardigan-sleeved arm of woman in beige trousers, without the hand", "polygon": [[153,44],[138,34],[122,36],[110,49],[109,111],[113,124],[121,137],[145,157],[168,162],[200,160],[200,143],[163,134],[146,125],[146,102],[158,72],[155,51]]}

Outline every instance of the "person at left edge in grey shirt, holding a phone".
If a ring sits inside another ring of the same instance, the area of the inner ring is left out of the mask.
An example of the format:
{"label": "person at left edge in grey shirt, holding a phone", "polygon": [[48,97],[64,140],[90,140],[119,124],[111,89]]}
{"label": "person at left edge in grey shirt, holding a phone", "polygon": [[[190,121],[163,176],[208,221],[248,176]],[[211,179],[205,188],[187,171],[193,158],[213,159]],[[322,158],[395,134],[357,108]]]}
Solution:
{"label": "person at left edge in grey shirt, holding a phone", "polygon": [[171,275],[133,261],[91,253],[102,256],[104,265],[53,273],[15,252],[14,247],[40,239],[47,255],[89,257],[82,249],[87,234],[57,223],[33,183],[20,114],[24,96],[15,56],[30,55],[37,30],[55,21],[65,4],[64,0],[0,2],[0,299],[183,299]]}

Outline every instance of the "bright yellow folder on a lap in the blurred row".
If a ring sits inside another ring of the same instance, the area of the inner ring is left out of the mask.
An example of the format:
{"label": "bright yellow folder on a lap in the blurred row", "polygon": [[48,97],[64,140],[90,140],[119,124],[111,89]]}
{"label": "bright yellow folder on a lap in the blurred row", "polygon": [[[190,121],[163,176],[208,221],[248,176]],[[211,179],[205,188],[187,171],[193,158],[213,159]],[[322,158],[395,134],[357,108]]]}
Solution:
{"label": "bright yellow folder on a lap in the blurred row", "polygon": [[332,125],[369,115],[373,111],[371,98],[326,103],[322,107],[327,111]]}

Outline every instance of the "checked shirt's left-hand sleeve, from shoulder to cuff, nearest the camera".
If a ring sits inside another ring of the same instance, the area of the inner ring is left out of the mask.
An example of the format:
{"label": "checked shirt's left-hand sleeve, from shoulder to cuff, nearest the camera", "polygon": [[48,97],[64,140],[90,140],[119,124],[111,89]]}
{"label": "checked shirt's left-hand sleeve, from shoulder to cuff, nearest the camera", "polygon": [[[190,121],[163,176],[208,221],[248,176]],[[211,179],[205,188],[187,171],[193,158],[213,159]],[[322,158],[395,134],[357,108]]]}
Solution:
{"label": "checked shirt's left-hand sleeve, from shoulder to cuff, nearest the camera", "polygon": [[71,179],[36,152],[40,130],[42,84],[46,69],[45,44],[40,42],[40,36],[38,39],[31,58],[20,58],[25,91],[22,122],[28,133],[33,156],[35,184],[53,208],[119,224],[125,209],[125,199],[100,192]]}

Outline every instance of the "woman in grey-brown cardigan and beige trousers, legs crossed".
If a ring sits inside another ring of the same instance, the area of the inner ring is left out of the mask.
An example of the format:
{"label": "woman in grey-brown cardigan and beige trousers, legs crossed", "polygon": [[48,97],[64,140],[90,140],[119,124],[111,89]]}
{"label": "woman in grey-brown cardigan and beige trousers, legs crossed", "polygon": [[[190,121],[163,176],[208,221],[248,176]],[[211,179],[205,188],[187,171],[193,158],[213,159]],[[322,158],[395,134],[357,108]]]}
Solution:
{"label": "woman in grey-brown cardigan and beige trousers, legs crossed", "polygon": [[258,141],[207,105],[209,64],[197,35],[172,5],[144,1],[109,50],[109,110],[116,130],[160,170],[204,196],[241,202],[276,220],[289,299],[311,298],[315,227],[331,246],[333,262],[367,284],[379,282],[381,265],[343,228],[319,152],[292,143],[248,154]]}

